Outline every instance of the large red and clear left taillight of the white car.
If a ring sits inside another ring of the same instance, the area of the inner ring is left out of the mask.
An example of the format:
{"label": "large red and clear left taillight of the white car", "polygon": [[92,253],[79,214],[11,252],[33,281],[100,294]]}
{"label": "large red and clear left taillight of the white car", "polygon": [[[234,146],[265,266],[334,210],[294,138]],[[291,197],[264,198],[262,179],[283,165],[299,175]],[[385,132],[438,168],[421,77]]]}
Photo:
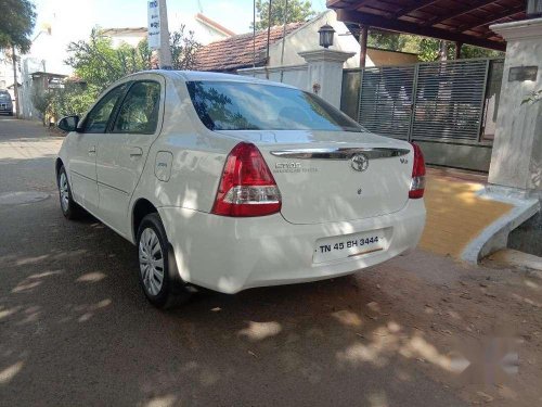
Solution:
{"label": "large red and clear left taillight of the white car", "polygon": [[225,161],[212,213],[222,216],[263,216],[281,211],[279,187],[258,148],[241,142]]}

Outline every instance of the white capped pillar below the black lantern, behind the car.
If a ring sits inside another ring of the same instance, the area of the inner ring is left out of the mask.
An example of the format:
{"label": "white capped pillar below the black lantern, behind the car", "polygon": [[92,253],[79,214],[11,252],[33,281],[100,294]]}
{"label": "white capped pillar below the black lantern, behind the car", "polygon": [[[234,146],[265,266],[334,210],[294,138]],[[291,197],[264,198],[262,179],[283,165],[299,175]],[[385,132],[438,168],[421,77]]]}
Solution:
{"label": "white capped pillar below the black lantern, behind the car", "polygon": [[307,90],[340,109],[343,64],[356,53],[321,48],[314,51],[299,52],[299,55],[309,65]]}

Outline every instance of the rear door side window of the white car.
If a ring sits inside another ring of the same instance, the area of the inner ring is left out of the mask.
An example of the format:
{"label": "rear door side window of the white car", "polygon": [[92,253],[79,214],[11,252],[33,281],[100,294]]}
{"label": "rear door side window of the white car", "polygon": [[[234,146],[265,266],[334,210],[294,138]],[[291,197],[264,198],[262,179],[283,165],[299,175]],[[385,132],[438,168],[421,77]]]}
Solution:
{"label": "rear door side window of the white car", "polygon": [[113,132],[153,135],[158,124],[160,85],[138,81],[126,94],[113,126]]}

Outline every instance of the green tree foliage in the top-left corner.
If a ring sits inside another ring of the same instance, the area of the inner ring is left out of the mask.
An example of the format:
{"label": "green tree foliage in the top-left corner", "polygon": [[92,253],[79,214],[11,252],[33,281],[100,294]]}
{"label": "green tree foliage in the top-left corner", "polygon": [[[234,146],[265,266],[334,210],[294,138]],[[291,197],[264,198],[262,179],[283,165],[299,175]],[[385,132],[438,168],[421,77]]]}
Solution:
{"label": "green tree foliage in the top-left corner", "polygon": [[26,53],[30,49],[30,35],[36,24],[34,3],[29,0],[1,0],[0,48],[12,46]]}

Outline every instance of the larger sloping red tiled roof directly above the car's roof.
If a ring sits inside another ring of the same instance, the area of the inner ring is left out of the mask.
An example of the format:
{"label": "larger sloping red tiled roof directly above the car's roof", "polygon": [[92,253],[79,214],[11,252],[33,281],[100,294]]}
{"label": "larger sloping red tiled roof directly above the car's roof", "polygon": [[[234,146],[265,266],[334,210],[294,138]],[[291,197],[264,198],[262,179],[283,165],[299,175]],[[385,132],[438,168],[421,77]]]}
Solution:
{"label": "larger sloping red tiled roof directly above the car's roof", "polygon": [[[305,23],[289,23],[286,35],[299,28]],[[282,39],[283,26],[271,27],[269,43]],[[256,33],[256,66],[264,64],[268,31]],[[253,66],[253,33],[241,34],[220,41],[211,42],[201,48],[196,53],[196,71],[232,72]]]}

